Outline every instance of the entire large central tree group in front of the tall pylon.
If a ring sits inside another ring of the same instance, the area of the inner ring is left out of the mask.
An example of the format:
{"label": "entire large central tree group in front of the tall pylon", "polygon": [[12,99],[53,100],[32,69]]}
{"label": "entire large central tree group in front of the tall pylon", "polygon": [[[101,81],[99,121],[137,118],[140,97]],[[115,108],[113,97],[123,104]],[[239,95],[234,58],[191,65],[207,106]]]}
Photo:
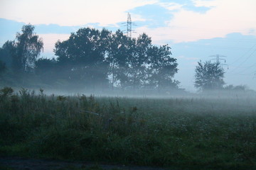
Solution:
{"label": "entire large central tree group in front of the tall pylon", "polygon": [[[140,89],[153,81],[158,82],[151,86],[153,89],[178,85],[178,81],[172,81],[178,64],[171,57],[171,47],[151,45],[151,38],[145,33],[128,38],[121,30],[111,33],[105,29],[81,28],[68,40],[55,44],[55,55],[56,66],[64,73],[62,79],[87,87],[100,83],[106,86],[107,81],[112,88],[121,89]],[[156,77],[157,80],[151,80]]]}

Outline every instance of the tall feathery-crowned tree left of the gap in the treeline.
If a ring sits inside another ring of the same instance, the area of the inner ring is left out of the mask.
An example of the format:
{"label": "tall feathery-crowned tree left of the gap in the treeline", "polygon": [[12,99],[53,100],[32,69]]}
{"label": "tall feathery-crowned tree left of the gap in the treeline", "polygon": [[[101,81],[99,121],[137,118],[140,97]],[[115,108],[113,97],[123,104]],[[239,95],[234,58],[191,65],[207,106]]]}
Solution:
{"label": "tall feathery-crowned tree left of the gap in the treeline", "polygon": [[43,51],[43,40],[33,33],[34,29],[34,26],[28,24],[22,27],[22,33],[16,35],[15,48],[11,51],[16,71],[30,72]]}

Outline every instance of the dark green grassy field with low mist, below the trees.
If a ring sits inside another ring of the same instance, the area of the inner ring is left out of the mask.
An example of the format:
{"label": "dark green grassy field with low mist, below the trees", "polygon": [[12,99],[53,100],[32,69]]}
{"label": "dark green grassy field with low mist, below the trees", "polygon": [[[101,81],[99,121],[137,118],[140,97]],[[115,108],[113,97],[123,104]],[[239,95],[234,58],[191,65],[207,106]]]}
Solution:
{"label": "dark green grassy field with low mist, below the trees", "polygon": [[0,93],[0,155],[167,169],[256,169],[256,98]]}

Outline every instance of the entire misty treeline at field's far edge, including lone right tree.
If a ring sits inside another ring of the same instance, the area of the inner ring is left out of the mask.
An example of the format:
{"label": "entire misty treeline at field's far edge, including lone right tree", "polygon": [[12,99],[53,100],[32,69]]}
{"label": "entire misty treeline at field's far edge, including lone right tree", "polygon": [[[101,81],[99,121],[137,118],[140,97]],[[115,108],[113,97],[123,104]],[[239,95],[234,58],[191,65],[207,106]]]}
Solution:
{"label": "entire misty treeline at field's far edge, including lone right tree", "polygon": [[[152,45],[145,33],[131,38],[121,30],[80,28],[70,38],[55,43],[55,57],[43,58],[43,40],[25,25],[14,41],[0,49],[0,86],[45,89],[48,94],[97,96],[253,96],[245,85],[225,84],[225,70],[218,61],[195,67],[196,93],[181,88],[174,79],[178,61],[169,45]],[[28,41],[29,40],[29,41]]]}

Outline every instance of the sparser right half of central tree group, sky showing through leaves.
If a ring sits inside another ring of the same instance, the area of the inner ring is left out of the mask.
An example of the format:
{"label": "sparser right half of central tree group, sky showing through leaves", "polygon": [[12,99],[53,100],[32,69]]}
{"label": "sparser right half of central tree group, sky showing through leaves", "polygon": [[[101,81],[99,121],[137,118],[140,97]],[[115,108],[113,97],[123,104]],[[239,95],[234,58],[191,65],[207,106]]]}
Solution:
{"label": "sparser right half of central tree group, sky showing through leaves", "polygon": [[178,81],[172,81],[178,64],[171,57],[171,47],[151,45],[151,38],[146,34],[131,39],[117,30],[112,35],[107,60],[112,86],[119,84],[122,88],[130,86],[133,89],[158,86],[163,89],[178,85]]}

